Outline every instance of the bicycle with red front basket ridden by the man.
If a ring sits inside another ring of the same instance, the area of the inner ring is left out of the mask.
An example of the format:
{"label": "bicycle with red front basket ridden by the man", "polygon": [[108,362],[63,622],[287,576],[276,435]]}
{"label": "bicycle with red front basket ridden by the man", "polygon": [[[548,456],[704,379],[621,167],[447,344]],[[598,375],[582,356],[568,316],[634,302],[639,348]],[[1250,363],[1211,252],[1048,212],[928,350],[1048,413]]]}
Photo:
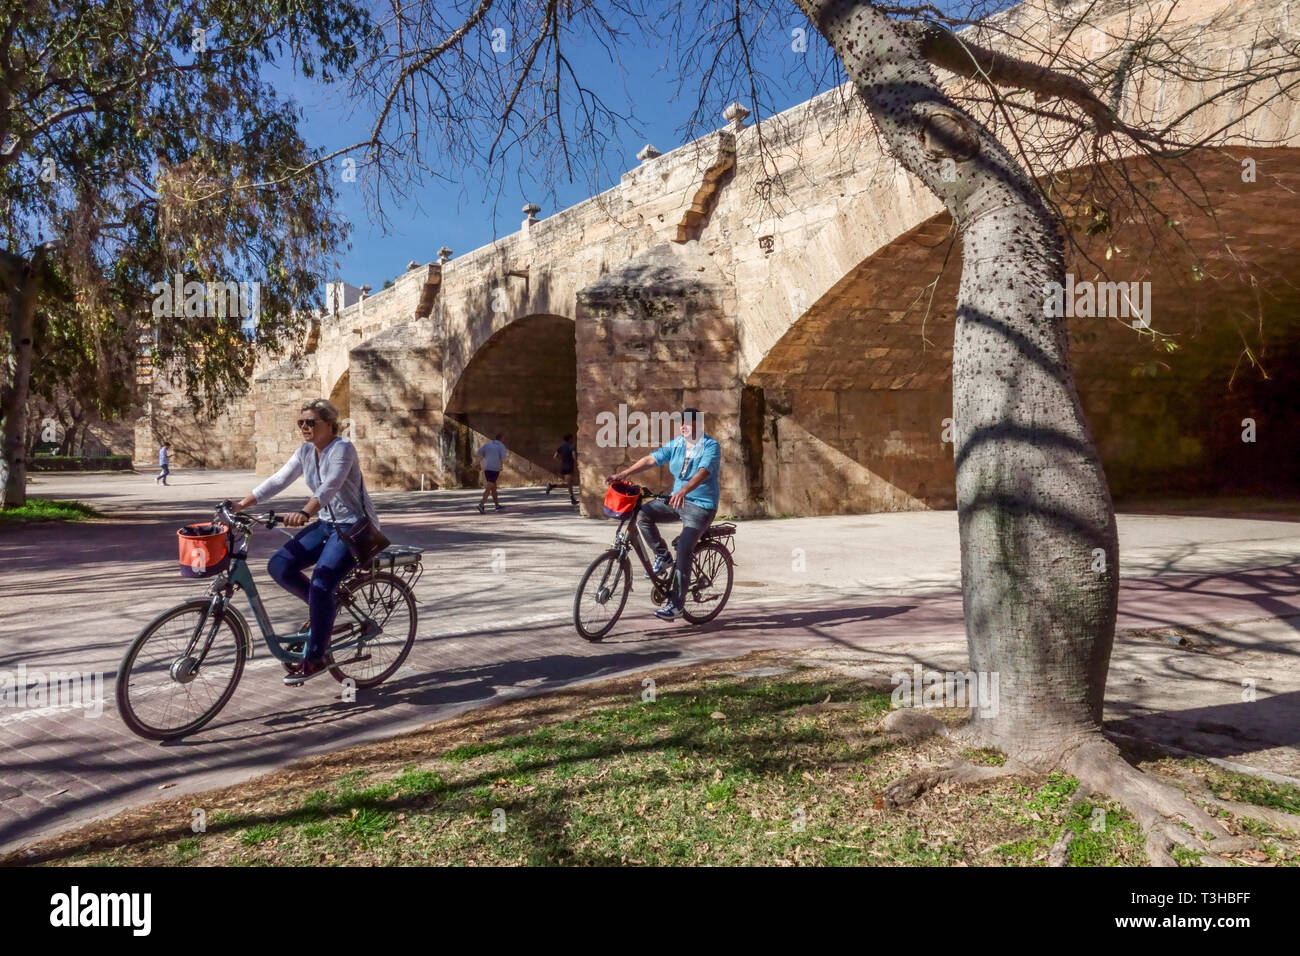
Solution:
{"label": "bicycle with red front basket ridden by the man", "polygon": [[[641,505],[646,501],[668,501],[667,494],[655,494],[649,488],[630,485],[634,488],[634,503],[627,511],[619,514],[619,527],[614,535],[614,546],[601,554],[582,574],[582,580],[577,585],[577,596],[573,598],[573,626],[577,632],[589,641],[602,640],[618,623],[628,604],[628,592],[632,591],[632,562],[629,554],[636,554],[650,578],[650,600],[655,605],[663,604],[664,598],[672,593],[672,575],[675,563],[668,562],[659,574],[654,572],[653,555],[641,540],[637,529],[637,515],[641,514]],[[628,497],[633,497],[629,494]],[[682,617],[692,624],[703,624],[718,617],[718,613],[727,605],[731,597],[732,568],[732,536],[736,525],[731,522],[712,524],[699,536],[694,554],[690,561],[690,576],[686,579],[685,593],[682,594]],[[680,536],[679,536],[680,537]],[[672,540],[672,550],[676,554],[677,538]]]}

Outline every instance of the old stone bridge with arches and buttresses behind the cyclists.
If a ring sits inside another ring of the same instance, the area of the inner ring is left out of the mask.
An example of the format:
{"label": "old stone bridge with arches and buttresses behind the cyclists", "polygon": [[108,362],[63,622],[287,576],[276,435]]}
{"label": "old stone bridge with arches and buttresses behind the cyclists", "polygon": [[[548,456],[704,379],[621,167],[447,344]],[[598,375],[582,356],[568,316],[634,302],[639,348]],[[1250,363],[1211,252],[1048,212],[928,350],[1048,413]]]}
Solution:
{"label": "old stone bridge with arches and buttresses behind the cyclists", "polygon": [[[980,30],[1063,38],[1083,9],[1031,0]],[[1284,3],[1117,4],[1067,47],[1118,56],[1114,38],[1164,16],[1166,34],[1195,36],[1221,66],[1264,44],[1261,23],[1292,30]],[[1158,122],[1212,92],[1139,85],[1121,112]],[[1254,489],[1300,484],[1284,445],[1300,433],[1300,111],[1294,99],[1264,99],[1202,111],[1199,126],[1223,127],[1225,148],[1171,179],[1138,157],[1097,169],[1082,147],[1049,163],[1078,226],[1072,274],[1098,278],[1102,263],[1110,278],[1149,282],[1150,326],[1173,337],[1117,319],[1069,320],[1079,390],[1118,494],[1199,493],[1245,477]],[[1034,129],[1017,133],[1046,153]],[[228,460],[274,470],[298,444],[299,401],[329,395],[373,486],[476,485],[472,450],[497,432],[514,453],[503,483],[537,484],[560,436],[575,433],[584,511],[599,514],[602,476],[658,444],[636,429],[610,441],[601,423],[694,405],[723,445],[723,511],[950,506],[961,248],[937,200],[881,152],[855,98],[833,90],[760,125],[732,111],[727,127],[650,153],[614,189],[546,219],[530,213],[519,232],[415,265],[322,317],[306,356],[261,371],[228,414],[225,433],[239,444]],[[1200,271],[1152,256],[1149,233],[1132,221],[1089,235],[1102,213],[1088,207],[1087,182],[1098,173],[1144,183],[1182,224]],[[1218,222],[1191,208],[1193,190]],[[1257,423],[1253,444],[1242,440],[1245,418]]]}

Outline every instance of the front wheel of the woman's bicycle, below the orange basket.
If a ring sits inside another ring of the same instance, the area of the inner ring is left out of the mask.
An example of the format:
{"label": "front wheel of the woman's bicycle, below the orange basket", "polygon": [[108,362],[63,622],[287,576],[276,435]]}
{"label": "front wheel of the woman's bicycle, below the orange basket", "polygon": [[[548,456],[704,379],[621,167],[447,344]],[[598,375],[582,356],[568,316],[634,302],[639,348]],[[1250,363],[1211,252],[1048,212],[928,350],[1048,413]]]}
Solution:
{"label": "front wheel of the woman's bicycle, below the orange basket", "polygon": [[203,597],[164,611],[122,656],[117,710],[134,734],[150,740],[194,734],[235,692],[243,674],[247,630],[233,610],[222,609],[212,645],[200,661],[213,626],[209,607],[209,598]]}

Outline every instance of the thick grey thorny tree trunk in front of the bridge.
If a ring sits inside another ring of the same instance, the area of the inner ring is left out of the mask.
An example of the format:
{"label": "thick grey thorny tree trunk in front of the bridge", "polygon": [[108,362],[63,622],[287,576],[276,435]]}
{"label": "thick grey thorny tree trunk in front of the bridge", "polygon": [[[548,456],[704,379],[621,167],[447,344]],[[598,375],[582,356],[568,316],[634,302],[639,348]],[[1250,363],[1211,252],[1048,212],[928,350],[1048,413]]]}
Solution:
{"label": "thick grey thorny tree trunk in front of the bridge", "polygon": [[1046,284],[1065,282],[1061,237],[1017,161],[945,96],[922,31],[857,0],[796,1],[844,61],[892,153],[961,232],[962,600],[971,667],[998,679],[996,714],[972,718],[970,731],[1018,762],[1060,765],[1100,728],[1118,597],[1110,492],[1070,373],[1065,320],[1044,310]]}

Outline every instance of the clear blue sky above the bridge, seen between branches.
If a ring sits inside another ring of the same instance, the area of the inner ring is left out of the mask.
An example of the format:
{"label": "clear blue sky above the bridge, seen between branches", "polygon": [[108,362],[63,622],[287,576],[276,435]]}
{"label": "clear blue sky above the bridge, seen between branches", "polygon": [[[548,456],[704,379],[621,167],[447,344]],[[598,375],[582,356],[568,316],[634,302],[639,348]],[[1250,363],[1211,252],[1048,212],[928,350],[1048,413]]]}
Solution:
{"label": "clear blue sky above the bridge, seen between branches", "polygon": [[[806,27],[806,21],[793,4],[788,9],[777,5],[777,9],[781,10],[780,16],[762,23],[760,43],[753,53],[759,72],[774,79],[770,90],[774,105],[784,109],[819,90],[807,70],[800,69],[801,59],[806,55],[792,49],[792,30]],[[814,42],[820,40],[815,35],[809,36],[810,47]],[[623,172],[637,165],[636,153],[645,143],[654,143],[662,152],[680,146],[684,140],[679,127],[688,120],[697,101],[690,90],[677,96],[679,78],[666,65],[670,60],[668,51],[658,43],[629,44],[619,52],[623,75],[616,68],[611,68],[607,55],[595,44],[568,48],[576,69],[586,70],[585,81],[595,86],[612,107],[632,113],[637,127],[614,144],[616,155],[623,157],[623,166],[606,170],[598,177],[595,190],[616,185]],[[290,75],[286,70],[273,72],[270,79],[303,109],[302,129],[312,146],[339,148],[369,133],[368,111],[355,109],[339,90]],[[753,107],[750,103],[746,105]],[[718,112],[716,126],[720,127],[725,124],[720,109]],[[436,260],[441,246],[450,246],[459,256],[515,232],[524,219],[521,207],[526,202],[542,203],[540,216],[545,219],[595,191],[589,182],[592,172],[588,169],[576,169],[575,182],[554,183],[558,206],[547,203],[543,199],[546,190],[533,185],[533,170],[519,168],[517,163],[507,168],[503,177],[506,185],[499,189],[499,195],[495,187],[489,191],[488,185],[477,176],[447,172],[454,182],[425,182],[407,202],[384,196],[390,220],[386,230],[367,208],[367,193],[360,177],[356,183],[338,182],[337,211],[352,224],[351,248],[339,254],[342,268],[338,277],[352,285],[370,285],[378,290],[384,280],[404,272],[410,260]]]}

